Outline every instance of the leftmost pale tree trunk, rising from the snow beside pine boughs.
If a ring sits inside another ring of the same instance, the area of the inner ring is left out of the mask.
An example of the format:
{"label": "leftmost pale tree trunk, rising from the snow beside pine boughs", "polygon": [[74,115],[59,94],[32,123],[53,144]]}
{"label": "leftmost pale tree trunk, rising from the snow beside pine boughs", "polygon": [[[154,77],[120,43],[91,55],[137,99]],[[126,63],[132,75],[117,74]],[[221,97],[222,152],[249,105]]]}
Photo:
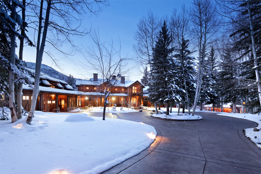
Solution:
{"label": "leftmost pale tree trunk, rising from the snow beside pine boughs", "polygon": [[[15,21],[16,21],[16,7],[14,4],[14,1],[12,1],[12,12],[11,12],[11,18],[13,19],[12,24],[12,30],[15,30]],[[15,65],[15,34],[13,31],[11,31],[10,36],[10,63],[11,65]],[[11,113],[11,119],[12,123],[16,122],[18,120],[17,118],[17,111],[15,109],[14,104],[14,73],[11,69],[8,70],[9,73],[9,80],[8,80],[8,89],[9,89],[9,107],[10,107],[10,113]]]}

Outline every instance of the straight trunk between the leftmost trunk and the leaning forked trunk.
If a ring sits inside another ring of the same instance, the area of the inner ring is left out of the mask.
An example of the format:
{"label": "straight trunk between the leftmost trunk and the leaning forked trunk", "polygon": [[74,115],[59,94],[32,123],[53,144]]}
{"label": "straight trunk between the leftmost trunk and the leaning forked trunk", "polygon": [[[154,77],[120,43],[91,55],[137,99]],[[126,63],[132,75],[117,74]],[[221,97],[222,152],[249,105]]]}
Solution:
{"label": "straight trunk between the leftmost trunk and the leaning forked trunk", "polygon": [[[23,0],[23,6],[26,6],[26,1]],[[22,20],[25,21],[25,9],[22,9]],[[21,35],[24,36],[24,25],[21,29]],[[24,38],[20,39],[20,48],[19,48],[19,60],[23,61],[23,40]],[[22,118],[22,97],[23,97],[23,83],[19,82],[18,91],[17,91],[17,117],[18,119]]]}

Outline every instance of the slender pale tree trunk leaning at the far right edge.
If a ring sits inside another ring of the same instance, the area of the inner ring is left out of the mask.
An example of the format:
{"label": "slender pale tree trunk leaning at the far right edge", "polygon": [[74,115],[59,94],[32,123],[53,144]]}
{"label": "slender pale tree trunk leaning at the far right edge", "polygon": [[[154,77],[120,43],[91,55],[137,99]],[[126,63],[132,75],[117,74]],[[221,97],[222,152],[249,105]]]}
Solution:
{"label": "slender pale tree trunk leaning at the far right edge", "polygon": [[253,56],[254,56],[254,65],[255,65],[255,76],[256,76],[256,82],[258,84],[258,96],[259,96],[259,102],[260,102],[260,107],[261,107],[261,84],[260,84],[260,74],[257,69],[258,67],[258,58],[257,58],[257,53],[256,53],[256,47],[255,47],[255,36],[254,36],[254,27],[253,27],[253,20],[252,20],[252,12],[250,9],[250,3],[247,1],[247,8],[248,8],[248,15],[249,15],[249,23],[250,23],[250,34],[251,34],[251,39],[252,39],[252,51],[253,51]]}

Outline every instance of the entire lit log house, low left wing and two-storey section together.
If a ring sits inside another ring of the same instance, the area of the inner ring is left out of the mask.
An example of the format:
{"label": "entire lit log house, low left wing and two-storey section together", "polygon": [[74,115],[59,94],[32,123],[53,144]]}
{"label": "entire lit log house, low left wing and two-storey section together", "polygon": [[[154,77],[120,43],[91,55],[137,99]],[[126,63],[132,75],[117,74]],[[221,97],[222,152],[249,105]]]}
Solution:
{"label": "entire lit log house, low left wing and two-storey section together", "polygon": [[[29,71],[34,72],[32,69]],[[116,80],[116,76],[112,77]],[[139,81],[125,80],[125,76],[121,76],[116,81],[116,85],[108,85],[103,79],[98,79],[98,74],[93,74],[90,80],[77,80],[76,86],[78,91],[74,91],[73,87],[63,80],[55,79],[47,75],[40,76],[39,95],[37,98],[36,111],[60,112],[71,111],[78,107],[104,106],[104,90],[110,90],[108,97],[109,106],[116,104],[117,106],[133,106],[139,107],[144,102],[143,88],[144,85]],[[34,81],[34,79],[32,79]],[[26,111],[30,111],[32,102],[33,89],[29,85],[23,85],[22,106]]]}

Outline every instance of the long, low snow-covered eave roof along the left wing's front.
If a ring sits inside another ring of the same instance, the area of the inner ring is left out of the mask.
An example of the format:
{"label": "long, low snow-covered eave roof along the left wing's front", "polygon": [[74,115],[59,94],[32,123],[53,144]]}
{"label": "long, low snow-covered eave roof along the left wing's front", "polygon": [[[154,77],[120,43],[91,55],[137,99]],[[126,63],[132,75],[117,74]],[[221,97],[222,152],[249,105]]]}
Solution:
{"label": "long, low snow-covered eave roof along the left wing's front", "polygon": [[[29,85],[23,85],[23,90],[30,90],[33,89],[29,87]],[[104,94],[97,93],[97,92],[79,92],[79,91],[69,91],[65,89],[57,89],[57,88],[51,88],[51,87],[44,87],[39,86],[40,92],[50,92],[50,93],[59,93],[59,94],[75,94],[75,95],[86,95],[86,96],[102,96]]]}

